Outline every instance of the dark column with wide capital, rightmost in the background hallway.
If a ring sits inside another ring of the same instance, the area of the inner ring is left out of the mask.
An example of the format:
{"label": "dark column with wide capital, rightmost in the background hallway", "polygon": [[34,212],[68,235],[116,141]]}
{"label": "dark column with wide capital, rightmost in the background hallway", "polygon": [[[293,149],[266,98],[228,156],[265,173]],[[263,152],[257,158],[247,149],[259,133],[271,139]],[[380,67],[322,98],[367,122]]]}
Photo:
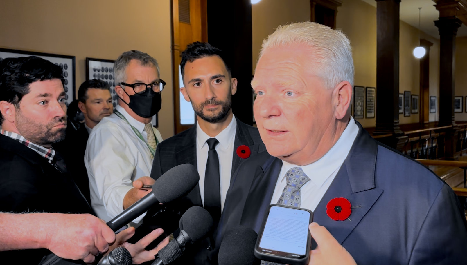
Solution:
{"label": "dark column with wide capital, rightmost in the background hallway", "polygon": [[454,123],[454,56],[456,34],[461,21],[458,18],[441,17],[435,21],[439,29],[439,125]]}

